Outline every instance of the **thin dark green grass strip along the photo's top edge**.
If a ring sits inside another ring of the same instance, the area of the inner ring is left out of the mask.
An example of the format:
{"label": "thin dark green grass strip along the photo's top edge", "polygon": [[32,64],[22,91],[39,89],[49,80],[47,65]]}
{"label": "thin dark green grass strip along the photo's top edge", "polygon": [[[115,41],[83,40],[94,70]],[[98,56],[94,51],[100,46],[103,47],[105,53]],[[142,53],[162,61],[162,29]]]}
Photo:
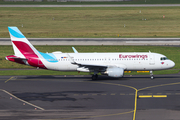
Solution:
{"label": "thin dark green grass strip along the photo's top edge", "polygon": [[1,5],[94,5],[94,4],[180,4],[179,0],[132,0],[124,2],[4,2]]}

